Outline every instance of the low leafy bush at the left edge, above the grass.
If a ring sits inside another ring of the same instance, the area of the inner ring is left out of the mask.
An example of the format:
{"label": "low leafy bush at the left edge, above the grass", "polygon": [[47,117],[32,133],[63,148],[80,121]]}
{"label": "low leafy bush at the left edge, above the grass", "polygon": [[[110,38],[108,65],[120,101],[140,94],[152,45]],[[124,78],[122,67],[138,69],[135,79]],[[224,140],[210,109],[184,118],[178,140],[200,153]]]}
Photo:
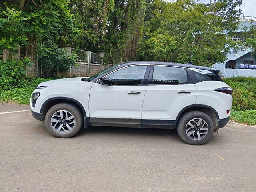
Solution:
{"label": "low leafy bush at the left edge, above the grass", "polygon": [[31,61],[28,58],[19,61],[0,61],[0,87],[9,89],[15,86],[20,86],[25,80],[25,68],[30,64]]}

